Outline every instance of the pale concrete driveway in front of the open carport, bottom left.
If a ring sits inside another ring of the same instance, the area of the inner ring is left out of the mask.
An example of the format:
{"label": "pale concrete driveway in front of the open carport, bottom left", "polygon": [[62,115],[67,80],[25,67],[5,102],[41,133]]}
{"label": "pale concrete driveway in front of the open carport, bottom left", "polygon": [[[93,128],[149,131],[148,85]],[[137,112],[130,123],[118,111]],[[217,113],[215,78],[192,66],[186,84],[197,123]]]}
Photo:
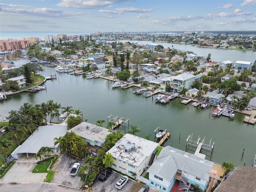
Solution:
{"label": "pale concrete driveway in front of the open carport, bottom left", "polygon": [[20,157],[10,168],[0,182],[43,182],[47,173],[32,173],[36,166],[36,160],[33,154],[26,158],[26,154]]}

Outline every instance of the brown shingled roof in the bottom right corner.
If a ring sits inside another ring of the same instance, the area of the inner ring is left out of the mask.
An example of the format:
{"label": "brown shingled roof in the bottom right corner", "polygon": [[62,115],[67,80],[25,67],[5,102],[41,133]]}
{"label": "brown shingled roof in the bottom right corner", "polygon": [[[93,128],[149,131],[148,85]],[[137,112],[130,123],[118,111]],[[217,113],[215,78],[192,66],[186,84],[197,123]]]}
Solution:
{"label": "brown shingled roof in the bottom right corner", "polygon": [[222,181],[214,192],[246,192],[256,191],[255,167],[239,166],[228,178]]}

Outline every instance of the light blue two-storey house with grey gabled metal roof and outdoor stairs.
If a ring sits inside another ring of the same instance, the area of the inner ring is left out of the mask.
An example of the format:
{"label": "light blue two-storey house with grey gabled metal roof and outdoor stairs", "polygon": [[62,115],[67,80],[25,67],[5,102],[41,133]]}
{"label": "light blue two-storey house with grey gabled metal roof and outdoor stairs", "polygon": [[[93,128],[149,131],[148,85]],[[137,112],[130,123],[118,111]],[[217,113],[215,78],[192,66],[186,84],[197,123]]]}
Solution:
{"label": "light blue two-storey house with grey gabled metal roof and outdoor stairs", "polygon": [[149,186],[169,192],[178,182],[179,190],[189,190],[191,184],[206,189],[213,162],[171,146],[164,147],[147,170]]}

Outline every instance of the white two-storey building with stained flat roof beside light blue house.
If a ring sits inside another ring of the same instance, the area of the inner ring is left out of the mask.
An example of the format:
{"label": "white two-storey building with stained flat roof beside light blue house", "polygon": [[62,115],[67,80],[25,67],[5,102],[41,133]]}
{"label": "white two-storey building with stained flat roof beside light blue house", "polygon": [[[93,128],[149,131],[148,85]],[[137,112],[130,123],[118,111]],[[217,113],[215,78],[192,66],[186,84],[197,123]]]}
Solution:
{"label": "white two-storey building with stained flat roof beside light blue house", "polygon": [[140,176],[147,168],[150,160],[153,162],[157,146],[158,143],[156,142],[132,134],[125,134],[107,153],[113,156],[112,168],[114,170],[133,177],[133,173]]}

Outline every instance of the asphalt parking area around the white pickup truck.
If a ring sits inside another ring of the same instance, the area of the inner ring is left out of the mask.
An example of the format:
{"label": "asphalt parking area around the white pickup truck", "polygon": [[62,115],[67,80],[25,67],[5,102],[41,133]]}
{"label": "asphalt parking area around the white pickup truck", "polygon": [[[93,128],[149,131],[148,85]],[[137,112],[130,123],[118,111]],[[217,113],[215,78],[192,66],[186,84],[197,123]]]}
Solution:
{"label": "asphalt parking area around the white pickup truck", "polygon": [[56,167],[56,173],[52,182],[74,188],[80,188],[82,185],[80,178],[78,176],[69,175],[75,162],[79,162],[80,166],[84,164],[83,160],[74,158],[72,156],[69,156],[68,154],[63,154],[58,166]]}

